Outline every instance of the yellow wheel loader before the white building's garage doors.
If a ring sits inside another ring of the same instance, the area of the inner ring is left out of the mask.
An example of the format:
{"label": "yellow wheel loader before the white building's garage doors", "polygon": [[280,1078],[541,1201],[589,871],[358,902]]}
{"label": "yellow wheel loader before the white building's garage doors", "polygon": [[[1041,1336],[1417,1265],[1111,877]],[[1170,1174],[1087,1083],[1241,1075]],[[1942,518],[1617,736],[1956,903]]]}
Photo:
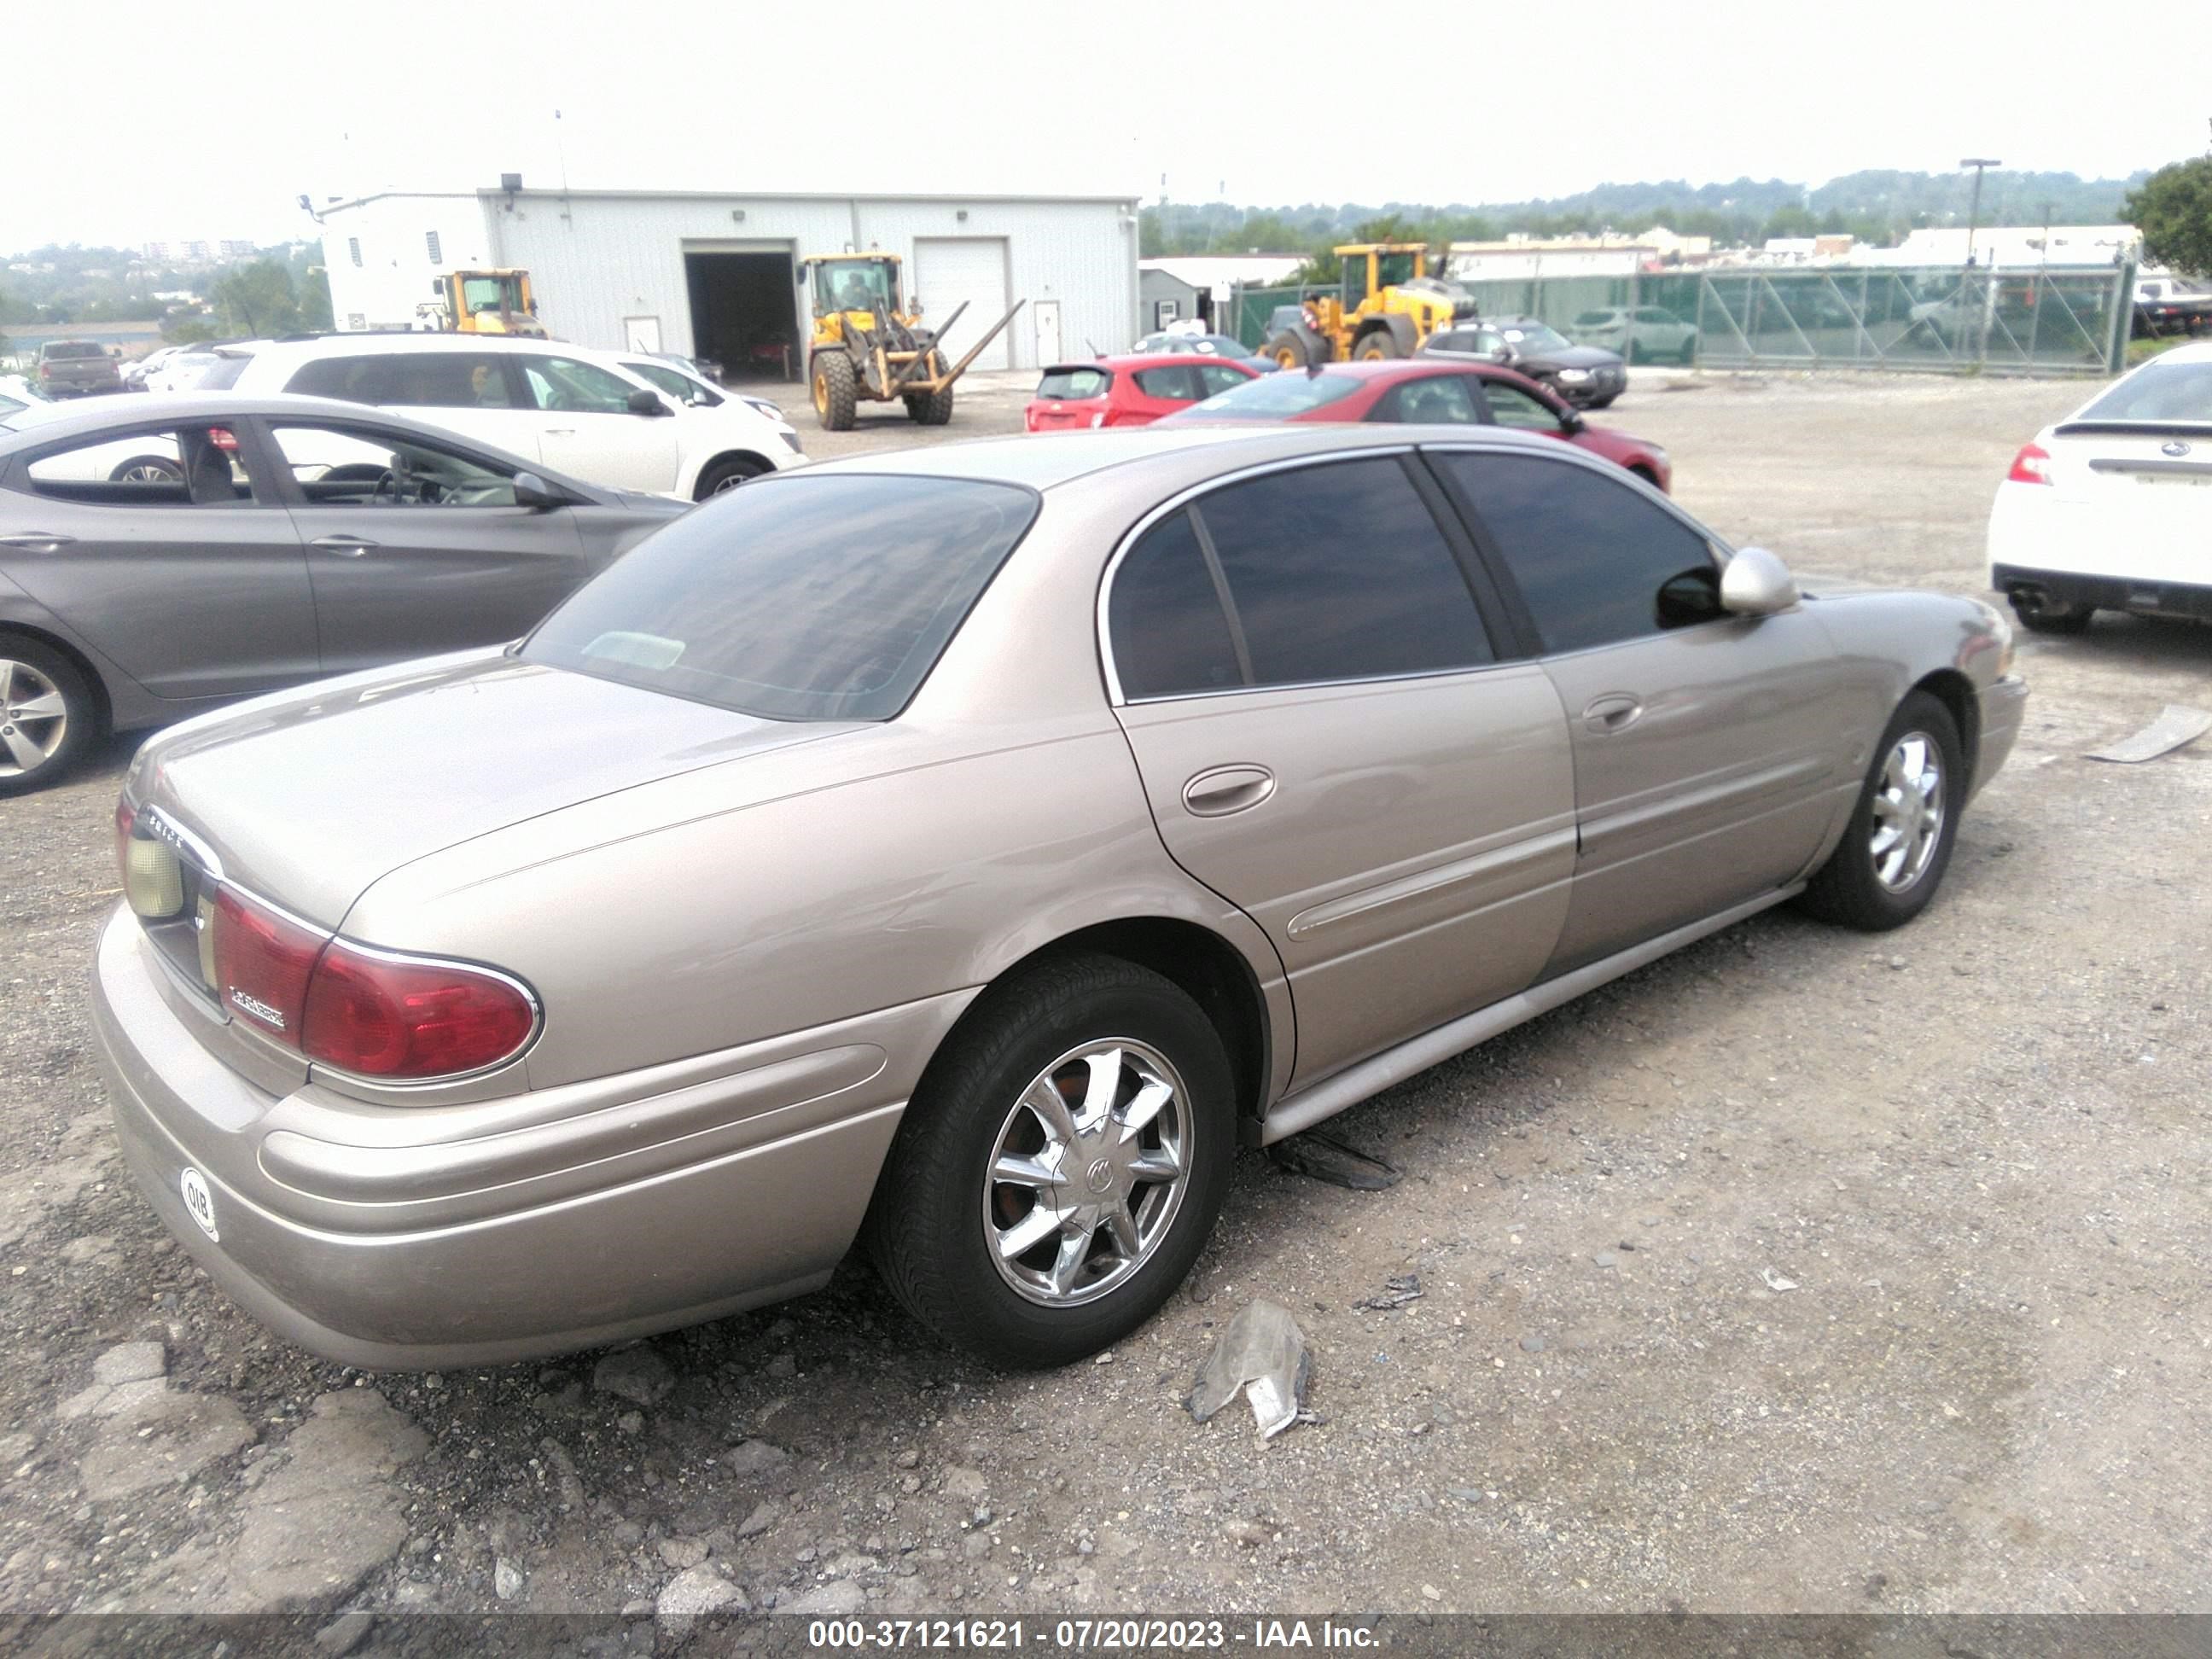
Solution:
{"label": "yellow wheel loader before the white building's garage doors", "polygon": [[852,431],[860,403],[907,405],[925,427],[953,418],[953,380],[1022,310],[1013,303],[967,356],[947,367],[938,341],[960,321],[962,303],[945,327],[920,325],[920,305],[907,305],[898,254],[814,254],[799,261],[801,285],[812,288],[814,338],[807,345],[807,385],[825,431]]}

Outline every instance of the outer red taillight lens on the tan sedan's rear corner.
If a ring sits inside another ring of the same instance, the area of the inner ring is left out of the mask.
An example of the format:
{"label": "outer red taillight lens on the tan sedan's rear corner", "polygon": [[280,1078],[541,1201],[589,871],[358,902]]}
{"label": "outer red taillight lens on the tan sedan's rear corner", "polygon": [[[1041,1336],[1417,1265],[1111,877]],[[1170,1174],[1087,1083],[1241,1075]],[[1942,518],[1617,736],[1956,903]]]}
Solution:
{"label": "outer red taillight lens on the tan sedan's rear corner", "polygon": [[511,980],[332,940],[307,984],[307,1060],[418,1082],[482,1071],[529,1042],[538,1009]]}

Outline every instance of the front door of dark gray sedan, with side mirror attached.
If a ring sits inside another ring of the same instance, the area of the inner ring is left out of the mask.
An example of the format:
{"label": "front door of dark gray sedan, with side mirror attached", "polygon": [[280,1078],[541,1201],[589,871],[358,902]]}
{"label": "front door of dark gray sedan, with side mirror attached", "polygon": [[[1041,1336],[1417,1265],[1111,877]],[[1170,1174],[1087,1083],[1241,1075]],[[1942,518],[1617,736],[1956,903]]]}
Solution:
{"label": "front door of dark gray sedan, with side mirror attached", "polygon": [[307,551],[323,672],[493,646],[591,573],[575,513],[515,507],[515,469],[374,420],[272,420]]}

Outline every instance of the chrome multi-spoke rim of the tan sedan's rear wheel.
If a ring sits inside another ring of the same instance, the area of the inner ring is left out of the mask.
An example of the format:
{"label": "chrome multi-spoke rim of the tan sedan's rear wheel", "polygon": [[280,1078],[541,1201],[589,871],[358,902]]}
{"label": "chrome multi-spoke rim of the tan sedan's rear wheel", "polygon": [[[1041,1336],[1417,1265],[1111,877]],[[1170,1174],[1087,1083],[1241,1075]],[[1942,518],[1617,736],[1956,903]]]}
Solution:
{"label": "chrome multi-spoke rim of the tan sedan's rear wheel", "polygon": [[1168,1237],[1190,1175],[1183,1079],[1128,1037],[1071,1048],[1000,1124],[982,1190],[991,1263],[1044,1307],[1097,1301]]}

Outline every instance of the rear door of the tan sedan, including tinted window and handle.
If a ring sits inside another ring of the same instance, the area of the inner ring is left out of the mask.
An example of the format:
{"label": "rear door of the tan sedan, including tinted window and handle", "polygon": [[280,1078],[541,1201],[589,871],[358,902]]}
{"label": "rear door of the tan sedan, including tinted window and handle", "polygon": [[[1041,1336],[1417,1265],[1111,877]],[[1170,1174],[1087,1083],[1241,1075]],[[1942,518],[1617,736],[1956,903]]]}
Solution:
{"label": "rear door of the tan sedan, including tinted window and handle", "polygon": [[1405,456],[1270,471],[1164,518],[1113,577],[1152,816],[1283,958],[1296,1084],[1520,991],[1566,918],[1559,699],[1498,661],[1431,504]]}

